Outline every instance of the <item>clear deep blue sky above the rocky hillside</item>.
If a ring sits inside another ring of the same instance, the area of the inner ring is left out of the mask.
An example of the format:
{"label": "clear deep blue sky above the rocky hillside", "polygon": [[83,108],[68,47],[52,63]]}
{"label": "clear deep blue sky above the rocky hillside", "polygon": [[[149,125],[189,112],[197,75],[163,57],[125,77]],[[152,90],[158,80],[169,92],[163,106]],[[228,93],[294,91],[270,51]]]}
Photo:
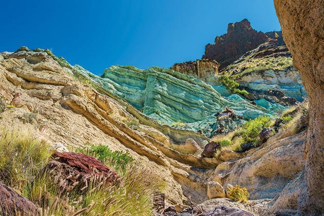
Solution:
{"label": "clear deep blue sky above the rocky hillside", "polygon": [[272,0],[0,0],[0,51],[50,48],[96,74],[110,65],[170,67],[247,18],[280,30]]}

